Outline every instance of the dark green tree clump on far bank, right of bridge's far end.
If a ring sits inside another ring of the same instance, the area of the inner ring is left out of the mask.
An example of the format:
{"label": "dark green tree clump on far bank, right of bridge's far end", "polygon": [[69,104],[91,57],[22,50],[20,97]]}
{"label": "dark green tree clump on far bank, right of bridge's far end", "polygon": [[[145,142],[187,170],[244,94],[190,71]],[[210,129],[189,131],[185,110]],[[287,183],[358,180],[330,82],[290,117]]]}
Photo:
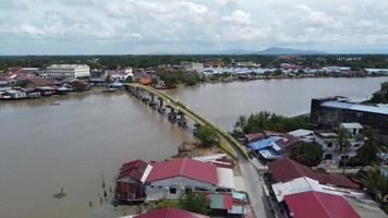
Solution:
{"label": "dark green tree clump on far bank, right of bridge's far end", "polygon": [[180,70],[165,71],[158,69],[156,71],[156,75],[158,75],[161,81],[165,81],[165,84],[168,86],[177,86],[179,84],[195,85],[204,81],[204,77],[199,73],[196,72],[186,73]]}

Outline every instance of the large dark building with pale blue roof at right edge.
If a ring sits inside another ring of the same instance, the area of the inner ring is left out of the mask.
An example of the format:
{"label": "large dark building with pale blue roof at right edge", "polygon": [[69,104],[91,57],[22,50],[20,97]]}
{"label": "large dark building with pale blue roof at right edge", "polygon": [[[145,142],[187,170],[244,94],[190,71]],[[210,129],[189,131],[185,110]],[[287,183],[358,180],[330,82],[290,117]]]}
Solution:
{"label": "large dark building with pale blue roof at right edge", "polygon": [[343,122],[357,122],[388,135],[388,107],[354,104],[340,96],[312,99],[310,121],[317,130],[332,130]]}

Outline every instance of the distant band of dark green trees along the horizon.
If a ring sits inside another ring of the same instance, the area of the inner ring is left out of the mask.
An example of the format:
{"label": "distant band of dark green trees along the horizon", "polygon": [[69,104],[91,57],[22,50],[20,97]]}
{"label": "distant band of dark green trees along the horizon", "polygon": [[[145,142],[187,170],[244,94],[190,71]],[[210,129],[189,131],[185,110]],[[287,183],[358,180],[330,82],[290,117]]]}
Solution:
{"label": "distant band of dark green trees along the horizon", "polygon": [[[347,58],[357,58],[351,61]],[[259,62],[263,68],[277,68],[281,63],[294,63],[306,68],[320,68],[323,65],[349,65],[352,70],[365,68],[388,69],[387,56],[384,55],[325,55],[325,56],[301,56],[293,59],[279,56],[12,56],[0,57],[0,71],[11,66],[35,66],[43,68],[52,63],[85,63],[93,69],[148,68],[161,64],[179,64],[182,61],[206,62],[215,61],[229,64],[233,61]]]}

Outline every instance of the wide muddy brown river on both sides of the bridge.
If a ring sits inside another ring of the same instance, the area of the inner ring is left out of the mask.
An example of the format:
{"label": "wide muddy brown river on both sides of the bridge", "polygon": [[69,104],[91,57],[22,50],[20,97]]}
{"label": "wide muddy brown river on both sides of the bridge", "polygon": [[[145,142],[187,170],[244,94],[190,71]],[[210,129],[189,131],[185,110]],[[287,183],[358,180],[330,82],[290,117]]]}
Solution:
{"label": "wide muddy brown river on both sides of the bridge", "polygon": [[[231,129],[240,114],[308,112],[312,97],[362,100],[387,77],[202,84],[167,93]],[[59,102],[53,106],[51,102]],[[0,217],[112,217],[102,195],[125,161],[163,159],[193,136],[125,93],[0,102]],[[52,195],[63,187],[64,198]],[[112,186],[113,187],[113,186]],[[89,208],[88,202],[93,202]]]}

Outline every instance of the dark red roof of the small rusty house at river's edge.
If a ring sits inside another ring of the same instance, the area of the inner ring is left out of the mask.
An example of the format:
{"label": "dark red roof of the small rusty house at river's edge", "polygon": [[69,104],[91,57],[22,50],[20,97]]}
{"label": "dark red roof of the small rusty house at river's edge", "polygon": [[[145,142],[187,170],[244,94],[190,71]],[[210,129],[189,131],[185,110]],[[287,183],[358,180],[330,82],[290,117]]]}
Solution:
{"label": "dark red roof of the small rusty house at river's edge", "polygon": [[126,162],[120,168],[120,174],[118,177],[118,180],[130,177],[140,181],[147,166],[148,164],[143,160],[134,160],[131,162]]}

